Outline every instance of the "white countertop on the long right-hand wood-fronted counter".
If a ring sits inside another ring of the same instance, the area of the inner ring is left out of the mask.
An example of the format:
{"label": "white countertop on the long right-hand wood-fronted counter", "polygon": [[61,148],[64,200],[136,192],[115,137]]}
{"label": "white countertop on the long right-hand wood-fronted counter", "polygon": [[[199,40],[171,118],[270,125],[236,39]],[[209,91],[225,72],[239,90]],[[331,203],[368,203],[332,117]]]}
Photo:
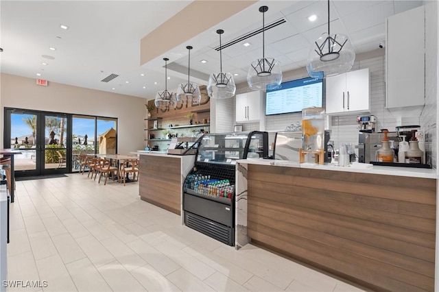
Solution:
{"label": "white countertop on the long right-hand wood-fronted counter", "polygon": [[381,175],[397,175],[408,176],[412,178],[437,178],[436,169],[418,169],[414,167],[381,167],[377,165],[368,165],[365,163],[351,163],[348,167],[340,167],[338,165],[318,165],[315,163],[299,163],[286,160],[270,160],[270,159],[242,159],[237,163],[246,163],[248,165],[274,165],[278,167],[299,167],[303,169],[322,169],[328,171],[348,171],[356,173],[370,173]]}

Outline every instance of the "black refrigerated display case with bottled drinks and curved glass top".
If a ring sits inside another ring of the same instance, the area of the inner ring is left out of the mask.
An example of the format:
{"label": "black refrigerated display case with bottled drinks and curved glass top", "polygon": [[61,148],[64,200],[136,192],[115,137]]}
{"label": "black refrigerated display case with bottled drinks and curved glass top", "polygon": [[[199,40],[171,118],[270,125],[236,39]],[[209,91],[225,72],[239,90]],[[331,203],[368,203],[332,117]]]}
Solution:
{"label": "black refrigerated display case with bottled drinks and curved glass top", "polygon": [[183,184],[185,225],[235,245],[235,164],[268,156],[268,132],[204,134]]}

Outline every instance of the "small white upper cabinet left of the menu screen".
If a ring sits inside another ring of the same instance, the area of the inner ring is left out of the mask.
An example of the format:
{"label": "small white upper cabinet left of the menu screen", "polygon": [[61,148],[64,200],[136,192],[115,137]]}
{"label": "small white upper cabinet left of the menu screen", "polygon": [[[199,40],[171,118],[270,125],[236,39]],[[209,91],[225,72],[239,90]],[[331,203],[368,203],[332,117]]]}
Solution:
{"label": "small white upper cabinet left of the menu screen", "polygon": [[244,123],[261,119],[263,91],[255,90],[236,95],[236,121]]}

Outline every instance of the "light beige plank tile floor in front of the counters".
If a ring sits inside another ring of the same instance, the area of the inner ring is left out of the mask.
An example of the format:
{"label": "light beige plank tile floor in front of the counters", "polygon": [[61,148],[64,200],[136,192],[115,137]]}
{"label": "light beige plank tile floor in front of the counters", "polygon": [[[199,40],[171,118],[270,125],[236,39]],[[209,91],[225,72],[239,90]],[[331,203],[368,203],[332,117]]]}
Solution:
{"label": "light beige plank tile floor in front of the counters", "polygon": [[178,215],[141,201],[138,188],[78,173],[16,182],[8,280],[40,282],[8,291],[362,291],[182,226]]}

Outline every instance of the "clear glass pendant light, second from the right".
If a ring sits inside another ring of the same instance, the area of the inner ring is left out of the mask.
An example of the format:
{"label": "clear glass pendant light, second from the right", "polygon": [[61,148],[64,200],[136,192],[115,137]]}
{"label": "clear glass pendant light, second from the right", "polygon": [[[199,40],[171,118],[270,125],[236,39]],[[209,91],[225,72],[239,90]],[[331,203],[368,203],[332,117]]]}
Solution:
{"label": "clear glass pendant light, second from the right", "polygon": [[262,12],[262,59],[252,62],[248,69],[247,83],[252,90],[265,90],[274,88],[282,82],[281,64],[274,58],[265,58],[265,12],[267,6],[261,6]]}

